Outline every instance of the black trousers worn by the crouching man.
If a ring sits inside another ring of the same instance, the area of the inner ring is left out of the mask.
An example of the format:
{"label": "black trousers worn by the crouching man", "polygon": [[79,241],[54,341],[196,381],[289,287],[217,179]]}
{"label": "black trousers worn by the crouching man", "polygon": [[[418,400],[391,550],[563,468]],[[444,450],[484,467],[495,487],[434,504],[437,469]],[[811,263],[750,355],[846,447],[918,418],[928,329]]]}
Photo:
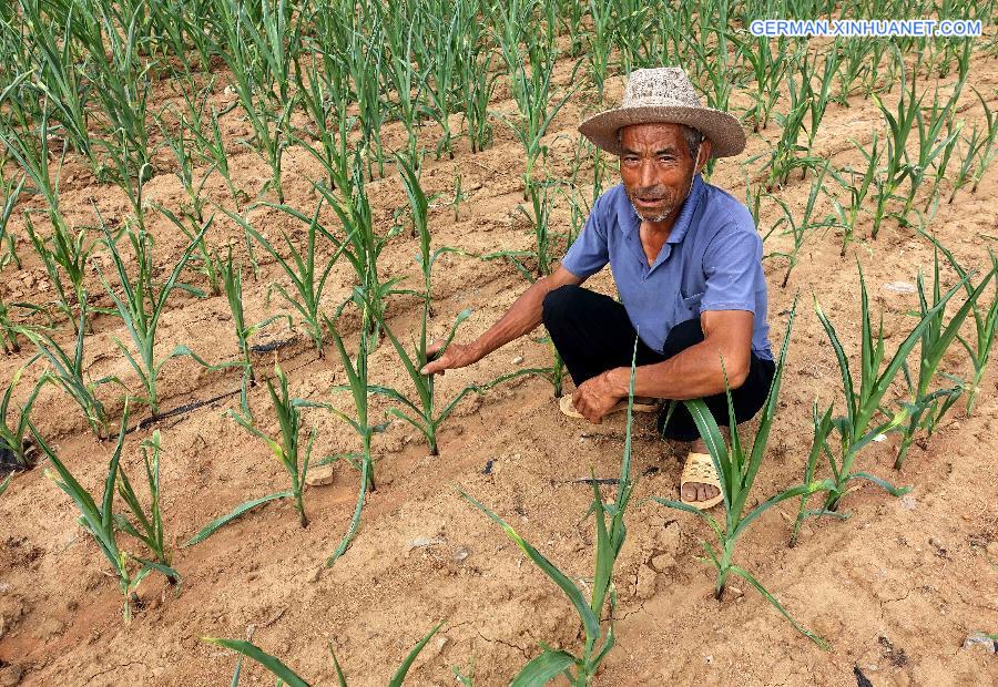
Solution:
{"label": "black trousers worn by the crouching man", "polygon": [[[588,379],[613,368],[631,367],[638,332],[623,305],[609,296],[579,286],[562,286],[544,296],[543,320],[554,347],[564,360],[572,381],[580,386]],[[703,341],[700,319],[680,322],[669,331],[662,352],[638,339],[637,366],[662,362],[680,351]],[[752,419],[765,403],[776,366],[752,353],[748,377],[731,390],[735,419]],[[727,397],[722,392],[703,399],[720,425],[729,423]],[[659,414],[659,431],[675,441],[693,441],[700,437],[693,417],[684,403],[676,403],[665,424],[666,403]]]}

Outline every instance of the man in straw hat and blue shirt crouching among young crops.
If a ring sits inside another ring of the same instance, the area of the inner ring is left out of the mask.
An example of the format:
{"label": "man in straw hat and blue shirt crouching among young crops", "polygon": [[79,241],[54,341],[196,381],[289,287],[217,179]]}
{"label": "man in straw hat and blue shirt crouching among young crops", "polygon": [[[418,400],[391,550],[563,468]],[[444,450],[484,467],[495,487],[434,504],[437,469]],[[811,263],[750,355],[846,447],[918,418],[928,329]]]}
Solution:
{"label": "man in straw hat and blue shirt crouching among young crops", "polygon": [[[724,424],[726,373],[744,422],[773,379],[762,239],[748,209],[700,175],[712,156],[741,153],[744,132],[731,115],[702,107],[678,68],[638,70],[621,107],[579,131],[620,156],[623,183],[595,202],[554,274],[472,344],[451,344],[422,371],[471,365],[543,321],[577,387],[562,411],[600,422],[627,408],[638,337],[635,409],[659,412],[664,437],[693,442],[680,496],[711,507],[722,501],[720,482],[693,418],[680,403],[666,422],[668,404],[654,401],[701,398]],[[608,263],[620,303],[581,287]]]}

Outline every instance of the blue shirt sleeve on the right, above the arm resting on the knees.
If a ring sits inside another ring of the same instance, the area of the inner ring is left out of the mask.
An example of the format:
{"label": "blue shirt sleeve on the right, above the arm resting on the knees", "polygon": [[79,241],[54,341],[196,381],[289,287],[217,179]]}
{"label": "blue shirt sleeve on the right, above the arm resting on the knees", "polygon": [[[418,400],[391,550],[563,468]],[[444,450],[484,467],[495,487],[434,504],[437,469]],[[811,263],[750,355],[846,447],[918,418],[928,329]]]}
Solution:
{"label": "blue shirt sleeve on the right, above the arm resting on the knees", "polygon": [[755,315],[755,291],[762,275],[762,238],[754,230],[719,234],[703,255],[706,280],[701,311],[748,310]]}

